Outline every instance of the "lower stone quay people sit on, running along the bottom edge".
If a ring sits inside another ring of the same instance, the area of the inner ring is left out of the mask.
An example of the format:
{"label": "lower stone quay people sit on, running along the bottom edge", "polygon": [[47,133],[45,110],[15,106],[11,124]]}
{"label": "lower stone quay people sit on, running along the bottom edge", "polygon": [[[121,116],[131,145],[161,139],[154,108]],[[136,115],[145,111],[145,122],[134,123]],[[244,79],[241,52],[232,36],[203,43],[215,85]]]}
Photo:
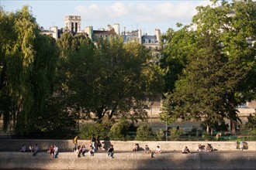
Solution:
{"label": "lower stone quay people sit on, running along the bottom edge", "polygon": [[213,151],[182,154],[180,151],[164,151],[151,158],[144,151],[115,151],[109,158],[106,151],[94,156],[78,158],[74,152],[60,152],[58,158],[51,158],[46,151],[35,157],[31,153],[0,151],[0,169],[180,169],[180,170],[254,170],[256,151]]}

